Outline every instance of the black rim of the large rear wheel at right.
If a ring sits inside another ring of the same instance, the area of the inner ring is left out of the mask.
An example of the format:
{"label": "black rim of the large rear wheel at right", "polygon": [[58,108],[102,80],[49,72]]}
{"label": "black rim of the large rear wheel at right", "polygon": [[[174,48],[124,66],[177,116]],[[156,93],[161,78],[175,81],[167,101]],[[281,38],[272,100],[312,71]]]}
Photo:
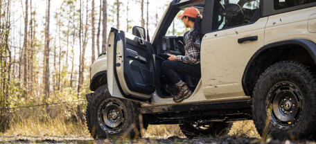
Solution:
{"label": "black rim of the large rear wheel at right", "polygon": [[278,82],[270,89],[265,107],[272,125],[288,130],[297,125],[303,114],[301,90],[292,82]]}

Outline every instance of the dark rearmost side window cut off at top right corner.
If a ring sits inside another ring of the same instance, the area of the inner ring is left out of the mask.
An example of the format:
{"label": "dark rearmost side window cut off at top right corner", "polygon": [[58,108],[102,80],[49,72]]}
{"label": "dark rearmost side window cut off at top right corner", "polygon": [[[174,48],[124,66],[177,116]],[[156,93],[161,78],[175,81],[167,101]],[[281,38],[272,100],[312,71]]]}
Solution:
{"label": "dark rearmost side window cut off at top right corner", "polygon": [[291,8],[293,6],[314,2],[316,2],[316,0],[274,0],[274,10],[281,10],[283,8]]}

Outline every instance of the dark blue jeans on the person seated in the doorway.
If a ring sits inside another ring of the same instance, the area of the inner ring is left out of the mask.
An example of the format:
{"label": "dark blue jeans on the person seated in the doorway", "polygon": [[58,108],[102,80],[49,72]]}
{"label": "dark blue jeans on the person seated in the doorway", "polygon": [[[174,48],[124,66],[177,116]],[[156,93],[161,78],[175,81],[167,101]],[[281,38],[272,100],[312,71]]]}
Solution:
{"label": "dark blue jeans on the person seated in the doorway", "polygon": [[164,75],[166,75],[173,84],[176,84],[181,80],[179,74],[191,75],[194,77],[201,76],[200,64],[193,65],[175,60],[165,60],[162,62],[161,68],[162,73],[164,73]]}

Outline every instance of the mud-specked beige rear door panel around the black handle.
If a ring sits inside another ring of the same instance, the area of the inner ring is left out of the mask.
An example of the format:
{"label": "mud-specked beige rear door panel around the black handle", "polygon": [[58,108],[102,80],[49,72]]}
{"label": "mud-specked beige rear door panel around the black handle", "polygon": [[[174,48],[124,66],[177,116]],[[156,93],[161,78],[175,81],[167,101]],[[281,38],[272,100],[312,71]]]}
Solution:
{"label": "mud-specked beige rear door panel around the black handle", "polygon": [[[204,35],[201,44],[202,87],[207,98],[248,98],[241,84],[252,55],[263,46],[267,17],[254,24],[218,30]],[[257,41],[238,44],[243,37]]]}

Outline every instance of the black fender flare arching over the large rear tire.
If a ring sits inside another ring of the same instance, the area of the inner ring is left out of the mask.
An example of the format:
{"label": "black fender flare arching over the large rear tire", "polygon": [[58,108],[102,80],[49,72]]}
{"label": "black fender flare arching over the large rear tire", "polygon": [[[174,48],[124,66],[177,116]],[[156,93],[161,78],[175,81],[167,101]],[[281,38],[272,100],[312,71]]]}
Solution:
{"label": "black fender flare arching over the large rear tire", "polygon": [[288,39],[283,40],[280,42],[273,42],[271,44],[267,44],[256,51],[254,55],[250,58],[249,62],[247,63],[247,66],[245,67],[245,71],[243,73],[242,78],[242,85],[243,90],[246,94],[246,96],[250,96],[252,91],[249,91],[249,85],[247,85],[247,75],[249,74],[249,70],[252,69],[252,66],[255,65],[256,59],[262,55],[265,51],[269,51],[271,48],[276,48],[278,46],[286,46],[286,45],[298,45],[304,48],[310,55],[310,57],[313,58],[314,63],[316,64],[316,44],[314,42],[311,42],[308,39]]}

